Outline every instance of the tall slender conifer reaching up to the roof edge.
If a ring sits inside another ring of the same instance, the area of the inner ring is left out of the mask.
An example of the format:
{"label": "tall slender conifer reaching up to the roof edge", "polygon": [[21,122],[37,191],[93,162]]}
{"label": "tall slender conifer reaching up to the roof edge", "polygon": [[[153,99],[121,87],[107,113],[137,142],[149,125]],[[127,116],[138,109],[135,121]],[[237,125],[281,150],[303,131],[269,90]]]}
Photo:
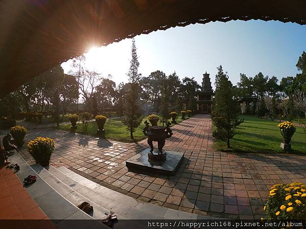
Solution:
{"label": "tall slender conifer reaching up to the roof edge", "polygon": [[124,115],[122,123],[130,131],[131,138],[134,139],[133,132],[140,125],[141,104],[140,104],[140,74],[138,73],[139,61],[137,56],[137,49],[135,39],[132,40],[132,59],[130,61],[130,69],[127,73],[129,76],[129,83],[127,84],[127,91],[124,96]]}

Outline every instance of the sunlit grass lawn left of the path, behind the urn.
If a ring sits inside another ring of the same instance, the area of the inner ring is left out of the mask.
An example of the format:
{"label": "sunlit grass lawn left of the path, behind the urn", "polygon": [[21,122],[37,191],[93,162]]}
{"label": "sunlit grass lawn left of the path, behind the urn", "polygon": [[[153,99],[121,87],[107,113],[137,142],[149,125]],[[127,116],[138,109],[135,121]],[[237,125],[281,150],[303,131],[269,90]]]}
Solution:
{"label": "sunlit grass lawn left of the path, behind the urn", "polygon": [[[186,118],[188,119],[188,117]],[[145,139],[146,136],[143,135],[142,130],[144,128],[144,121],[146,120],[146,117],[142,119],[142,122],[140,126],[136,129],[136,131],[133,133],[134,135],[134,140],[130,138],[130,132],[126,130],[126,127],[122,124],[121,120],[119,119],[112,119],[112,120],[107,120],[104,126],[105,129],[105,138],[113,139],[113,140],[118,140],[122,142],[134,142],[134,141],[139,141],[142,139]],[[182,116],[179,116],[179,119],[177,119],[177,122],[182,122]],[[162,124],[159,124],[162,125]],[[70,131],[70,124],[66,125],[61,125],[59,129],[61,130],[66,130]],[[96,122],[90,122],[88,124],[87,131],[84,132],[82,128],[82,123],[77,124],[78,129],[75,131],[76,133],[83,133],[83,134],[88,134],[88,135],[97,135],[97,129],[98,126]],[[171,125],[173,126],[173,124]]]}

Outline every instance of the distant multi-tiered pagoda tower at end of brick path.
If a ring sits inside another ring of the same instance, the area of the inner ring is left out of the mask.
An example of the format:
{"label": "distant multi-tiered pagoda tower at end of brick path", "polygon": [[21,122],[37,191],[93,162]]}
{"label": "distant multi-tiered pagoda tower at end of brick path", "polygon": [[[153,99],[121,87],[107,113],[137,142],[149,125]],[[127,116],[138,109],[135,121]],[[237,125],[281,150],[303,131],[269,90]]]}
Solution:
{"label": "distant multi-tiered pagoda tower at end of brick path", "polygon": [[211,113],[213,103],[213,89],[209,73],[203,74],[201,91],[197,94],[196,107],[198,113]]}

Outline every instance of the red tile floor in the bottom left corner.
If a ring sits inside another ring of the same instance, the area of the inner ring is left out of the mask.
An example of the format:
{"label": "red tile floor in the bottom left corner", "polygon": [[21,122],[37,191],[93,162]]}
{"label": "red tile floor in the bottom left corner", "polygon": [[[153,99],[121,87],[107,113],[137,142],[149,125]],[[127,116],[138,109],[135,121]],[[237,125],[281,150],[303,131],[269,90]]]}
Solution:
{"label": "red tile floor in the bottom left corner", "polygon": [[57,228],[37,206],[14,171],[5,165],[0,169],[0,228],[39,228],[39,225]]}

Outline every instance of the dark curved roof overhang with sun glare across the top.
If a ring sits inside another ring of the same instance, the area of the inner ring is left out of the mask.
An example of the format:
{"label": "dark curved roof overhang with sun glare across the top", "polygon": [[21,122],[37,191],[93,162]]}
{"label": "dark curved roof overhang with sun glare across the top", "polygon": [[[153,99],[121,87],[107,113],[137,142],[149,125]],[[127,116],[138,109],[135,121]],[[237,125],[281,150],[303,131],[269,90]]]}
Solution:
{"label": "dark curved roof overhang with sun glare across the top", "polygon": [[90,46],[230,20],[306,23],[303,0],[0,0],[0,96]]}

